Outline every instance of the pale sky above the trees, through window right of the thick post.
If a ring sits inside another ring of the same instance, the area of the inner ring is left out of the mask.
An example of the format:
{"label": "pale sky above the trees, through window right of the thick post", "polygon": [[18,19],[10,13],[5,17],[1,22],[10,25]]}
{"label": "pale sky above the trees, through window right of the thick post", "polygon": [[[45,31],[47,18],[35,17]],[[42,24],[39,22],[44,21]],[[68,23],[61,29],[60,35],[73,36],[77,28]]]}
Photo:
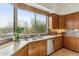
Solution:
{"label": "pale sky above the trees, through window right of the thick post", "polygon": [[[41,22],[46,23],[46,16],[40,15],[40,14],[36,14],[36,15],[37,15],[36,16],[37,19],[39,19]],[[33,21],[33,19],[35,19],[35,13],[18,9],[18,21],[19,21],[19,23],[26,22],[27,25],[30,27],[31,20]]]}

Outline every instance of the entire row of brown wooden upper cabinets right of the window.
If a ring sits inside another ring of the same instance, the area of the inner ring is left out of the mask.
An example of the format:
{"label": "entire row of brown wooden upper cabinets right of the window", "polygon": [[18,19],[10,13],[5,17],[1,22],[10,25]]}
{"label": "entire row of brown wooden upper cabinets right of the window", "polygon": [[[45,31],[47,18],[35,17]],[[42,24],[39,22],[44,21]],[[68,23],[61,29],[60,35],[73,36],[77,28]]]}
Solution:
{"label": "entire row of brown wooden upper cabinets right of the window", "polygon": [[52,29],[79,29],[79,12],[58,16],[52,14]]}

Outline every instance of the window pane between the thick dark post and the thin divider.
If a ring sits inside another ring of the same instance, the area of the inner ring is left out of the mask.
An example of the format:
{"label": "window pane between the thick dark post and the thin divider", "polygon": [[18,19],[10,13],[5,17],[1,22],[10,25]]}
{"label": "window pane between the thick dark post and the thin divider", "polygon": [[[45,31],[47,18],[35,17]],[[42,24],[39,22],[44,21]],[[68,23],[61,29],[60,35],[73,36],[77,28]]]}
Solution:
{"label": "window pane between the thick dark post and the thin divider", "polygon": [[35,13],[18,9],[18,26],[24,27],[23,34],[35,33],[32,22],[35,19]]}

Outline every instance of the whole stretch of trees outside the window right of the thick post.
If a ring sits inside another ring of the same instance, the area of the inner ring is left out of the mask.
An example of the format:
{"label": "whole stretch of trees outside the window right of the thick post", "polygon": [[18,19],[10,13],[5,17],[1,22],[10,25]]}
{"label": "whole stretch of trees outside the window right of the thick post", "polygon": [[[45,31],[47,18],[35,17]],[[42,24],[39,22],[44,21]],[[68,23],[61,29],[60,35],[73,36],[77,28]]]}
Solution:
{"label": "whole stretch of trees outside the window right of the thick post", "polygon": [[31,27],[28,27],[28,23],[25,22],[25,34],[32,34],[32,33],[44,33],[46,32],[46,23],[39,21],[38,19],[31,20]]}

